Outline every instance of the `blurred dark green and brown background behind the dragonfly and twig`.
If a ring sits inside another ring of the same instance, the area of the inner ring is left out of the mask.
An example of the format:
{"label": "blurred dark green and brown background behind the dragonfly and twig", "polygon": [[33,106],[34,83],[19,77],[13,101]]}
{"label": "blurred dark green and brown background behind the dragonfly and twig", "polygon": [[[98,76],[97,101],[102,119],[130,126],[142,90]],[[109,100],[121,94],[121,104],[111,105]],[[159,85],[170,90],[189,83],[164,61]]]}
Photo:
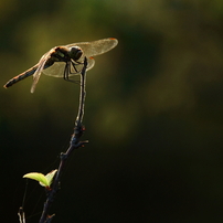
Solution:
{"label": "blurred dark green and brown background behind the dragonfly and twig", "polygon": [[[220,0],[1,0],[1,85],[51,47],[117,38],[87,73],[83,139],[53,222],[223,222],[223,3]],[[0,88],[1,215],[18,222],[25,180],[65,151],[78,85],[41,76]],[[29,181],[26,222],[44,191]]]}

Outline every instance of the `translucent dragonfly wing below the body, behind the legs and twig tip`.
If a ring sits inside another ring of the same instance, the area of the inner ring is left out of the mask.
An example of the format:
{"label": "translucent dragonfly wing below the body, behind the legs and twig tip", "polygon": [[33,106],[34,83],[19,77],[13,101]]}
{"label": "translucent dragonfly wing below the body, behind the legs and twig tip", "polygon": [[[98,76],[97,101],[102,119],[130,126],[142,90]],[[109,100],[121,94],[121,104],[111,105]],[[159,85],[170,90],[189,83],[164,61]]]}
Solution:
{"label": "translucent dragonfly wing below the body, behind the legs and twig tip", "polygon": [[[75,66],[76,71],[72,66],[72,73],[70,76],[74,76],[76,74],[79,74],[83,70],[84,64],[77,64]],[[95,60],[93,57],[87,59],[87,71],[91,70],[95,65]],[[42,71],[43,74],[47,76],[54,76],[54,77],[64,77],[64,70],[65,70],[65,63],[64,62],[55,62],[52,66],[45,68]]]}

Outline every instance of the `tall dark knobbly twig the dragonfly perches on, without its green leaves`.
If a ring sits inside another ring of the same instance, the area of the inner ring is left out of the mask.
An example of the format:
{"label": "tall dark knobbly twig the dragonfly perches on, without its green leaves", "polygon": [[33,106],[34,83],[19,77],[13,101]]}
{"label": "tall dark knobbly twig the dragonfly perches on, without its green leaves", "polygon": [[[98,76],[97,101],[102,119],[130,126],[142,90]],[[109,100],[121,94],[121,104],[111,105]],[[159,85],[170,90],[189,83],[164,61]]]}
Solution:
{"label": "tall dark knobbly twig the dragonfly perches on, without its green leaves", "polygon": [[86,67],[87,67],[87,60],[85,57],[84,66],[81,73],[79,107],[78,107],[78,114],[75,120],[74,134],[72,135],[68,149],[66,150],[65,153],[63,152],[61,153],[61,162],[59,166],[59,170],[54,178],[53,185],[47,191],[47,199],[44,203],[43,212],[39,223],[50,223],[52,221],[52,217],[54,215],[49,215],[49,210],[54,201],[56,192],[60,189],[61,176],[63,173],[66,161],[68,160],[68,157],[71,156],[72,151],[74,151],[74,149],[78,149],[79,147],[83,147],[85,144],[88,142],[88,141],[79,141],[79,138],[82,137],[85,130],[83,127],[82,120],[84,117],[84,103],[85,103],[85,96],[86,96],[86,92],[85,92]]}

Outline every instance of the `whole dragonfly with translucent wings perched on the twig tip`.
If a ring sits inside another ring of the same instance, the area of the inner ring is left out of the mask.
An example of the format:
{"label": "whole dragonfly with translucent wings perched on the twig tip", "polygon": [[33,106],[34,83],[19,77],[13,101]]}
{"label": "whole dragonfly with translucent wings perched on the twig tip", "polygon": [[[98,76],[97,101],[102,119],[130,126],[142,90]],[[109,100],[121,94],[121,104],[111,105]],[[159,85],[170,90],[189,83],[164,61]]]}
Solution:
{"label": "whole dragonfly with translucent wings perched on the twig tip", "polygon": [[34,93],[42,73],[49,76],[63,77],[65,81],[73,82],[70,77],[81,74],[85,57],[87,60],[86,71],[88,71],[95,65],[93,56],[106,53],[117,44],[117,39],[108,38],[93,42],[79,42],[55,46],[46,52],[38,64],[11,78],[3,87],[8,88],[33,75],[31,93]]}

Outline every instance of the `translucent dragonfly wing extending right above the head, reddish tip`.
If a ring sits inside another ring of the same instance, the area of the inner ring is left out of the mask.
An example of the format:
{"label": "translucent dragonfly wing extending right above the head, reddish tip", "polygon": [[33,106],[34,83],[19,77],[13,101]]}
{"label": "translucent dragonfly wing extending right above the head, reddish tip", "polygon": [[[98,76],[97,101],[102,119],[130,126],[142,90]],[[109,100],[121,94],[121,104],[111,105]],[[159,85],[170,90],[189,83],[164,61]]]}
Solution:
{"label": "translucent dragonfly wing extending right above the head, reddish tip", "polygon": [[99,55],[114,49],[118,41],[114,38],[97,40],[93,42],[81,42],[66,45],[67,47],[79,46],[86,57]]}

